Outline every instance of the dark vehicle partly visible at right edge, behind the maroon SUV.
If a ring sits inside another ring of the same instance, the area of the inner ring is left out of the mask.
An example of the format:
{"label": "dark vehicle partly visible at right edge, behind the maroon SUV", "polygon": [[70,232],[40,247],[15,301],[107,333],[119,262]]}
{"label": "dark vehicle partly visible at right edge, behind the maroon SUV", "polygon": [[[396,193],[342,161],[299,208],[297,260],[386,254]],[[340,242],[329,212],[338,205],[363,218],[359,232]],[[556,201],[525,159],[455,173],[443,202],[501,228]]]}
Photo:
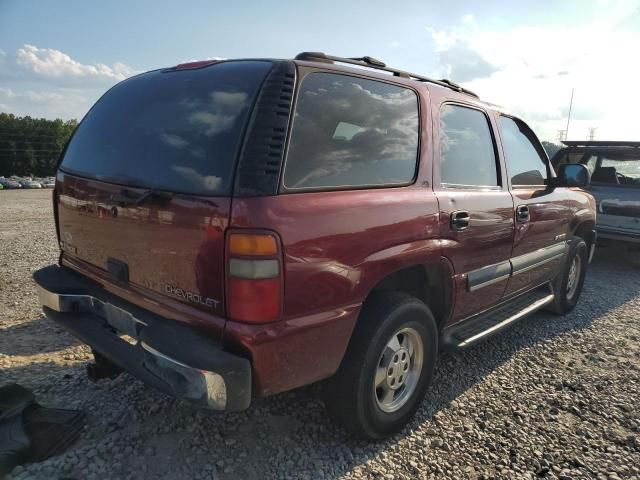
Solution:
{"label": "dark vehicle partly visible at right edge, behind the maroon SUV", "polygon": [[596,230],[606,240],[640,244],[640,142],[565,141],[551,160],[557,168],[584,165],[598,208]]}

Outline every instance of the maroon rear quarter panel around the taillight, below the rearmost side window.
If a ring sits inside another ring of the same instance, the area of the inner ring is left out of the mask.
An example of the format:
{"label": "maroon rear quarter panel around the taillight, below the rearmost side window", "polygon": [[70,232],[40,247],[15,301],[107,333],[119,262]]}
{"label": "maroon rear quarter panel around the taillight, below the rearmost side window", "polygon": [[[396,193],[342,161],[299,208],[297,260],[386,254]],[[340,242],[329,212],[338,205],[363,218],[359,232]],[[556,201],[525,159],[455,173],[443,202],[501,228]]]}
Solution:
{"label": "maroon rear quarter panel around the taillight, below the rearmost side window", "polygon": [[231,228],[276,232],[284,252],[282,320],[225,327],[226,340],[249,351],[261,395],[332,375],[377,283],[396,270],[440,262],[430,189],[234,199],[231,217]]}

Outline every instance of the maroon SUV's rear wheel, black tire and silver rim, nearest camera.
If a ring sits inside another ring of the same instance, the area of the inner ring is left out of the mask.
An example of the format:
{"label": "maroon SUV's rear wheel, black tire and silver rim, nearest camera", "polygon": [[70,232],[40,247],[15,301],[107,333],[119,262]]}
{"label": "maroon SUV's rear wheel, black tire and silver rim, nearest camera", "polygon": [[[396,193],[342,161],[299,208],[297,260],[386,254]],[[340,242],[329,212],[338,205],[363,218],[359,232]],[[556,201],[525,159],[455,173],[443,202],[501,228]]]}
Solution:
{"label": "maroon SUV's rear wheel, black tire and silver rim, nearest camera", "polygon": [[366,440],[400,431],[431,384],[437,351],[438,329],[423,302],[403,293],[375,293],[340,368],[325,384],[329,414]]}

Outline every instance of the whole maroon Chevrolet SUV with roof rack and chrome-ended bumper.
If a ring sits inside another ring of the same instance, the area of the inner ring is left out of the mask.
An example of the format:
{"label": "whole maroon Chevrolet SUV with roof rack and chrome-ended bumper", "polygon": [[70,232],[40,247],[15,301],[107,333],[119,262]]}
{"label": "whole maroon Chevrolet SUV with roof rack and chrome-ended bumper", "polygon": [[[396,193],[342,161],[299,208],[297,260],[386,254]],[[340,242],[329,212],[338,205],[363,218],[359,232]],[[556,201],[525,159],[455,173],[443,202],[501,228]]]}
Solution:
{"label": "whole maroon Chevrolet SUV with roof rack and chrome-ended bumper", "polygon": [[588,180],[522,120],[370,57],[183,64],[86,115],[56,178],[59,265],[34,278],[94,378],[230,411],[326,379],[329,412],[376,439],[439,349],[575,306]]}

